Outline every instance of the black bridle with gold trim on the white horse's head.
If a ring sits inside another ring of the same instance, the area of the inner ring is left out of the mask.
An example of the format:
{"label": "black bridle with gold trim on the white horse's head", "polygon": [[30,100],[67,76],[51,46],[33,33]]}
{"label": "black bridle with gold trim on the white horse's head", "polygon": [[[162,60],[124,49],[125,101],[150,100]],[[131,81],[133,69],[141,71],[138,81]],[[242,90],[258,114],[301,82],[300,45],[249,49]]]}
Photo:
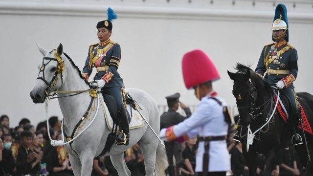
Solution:
{"label": "black bridle with gold trim on the white horse's head", "polygon": [[[64,61],[62,61],[61,57],[57,54],[57,52],[54,52],[54,56],[55,58],[50,58],[50,57],[44,57],[43,58],[43,65],[40,67],[40,71],[38,73],[38,77],[37,79],[41,79],[45,82],[45,84],[47,85],[47,88],[45,89],[45,94],[47,97],[49,97],[50,91],[51,89],[54,89],[54,87],[56,86],[57,82],[58,82],[58,75],[61,74],[61,86],[63,85],[63,74],[62,71],[64,70]],[[45,60],[49,60],[46,64],[44,63]],[[48,65],[51,61],[57,61],[58,65],[57,65],[57,69],[50,81],[50,83],[45,79],[45,66]],[[39,76],[40,73],[43,72],[43,77]],[[54,84],[53,84],[54,82]],[[53,84],[53,86],[51,86]]]}

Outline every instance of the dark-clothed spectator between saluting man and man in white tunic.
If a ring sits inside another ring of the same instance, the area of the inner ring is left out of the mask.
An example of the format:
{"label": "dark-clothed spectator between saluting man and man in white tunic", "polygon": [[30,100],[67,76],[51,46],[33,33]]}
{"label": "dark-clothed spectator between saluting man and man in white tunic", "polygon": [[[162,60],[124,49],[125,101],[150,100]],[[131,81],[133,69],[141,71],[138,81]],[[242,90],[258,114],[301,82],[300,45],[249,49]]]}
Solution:
{"label": "dark-clothed spectator between saluting man and man in white tunic", "polygon": [[196,151],[197,151],[197,137],[190,138],[186,141],[186,147],[182,151],[182,158],[184,164],[180,169],[183,176],[194,175],[196,169]]}

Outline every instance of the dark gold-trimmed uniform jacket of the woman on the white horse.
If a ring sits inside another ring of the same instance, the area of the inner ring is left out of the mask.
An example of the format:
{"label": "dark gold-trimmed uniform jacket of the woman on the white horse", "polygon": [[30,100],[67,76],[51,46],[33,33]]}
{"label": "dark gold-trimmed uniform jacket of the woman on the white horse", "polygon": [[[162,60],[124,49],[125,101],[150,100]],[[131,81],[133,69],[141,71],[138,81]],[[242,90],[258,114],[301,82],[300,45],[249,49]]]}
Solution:
{"label": "dark gold-trimmed uniform jacket of the woman on the white horse", "polygon": [[[109,47],[109,49],[105,51],[106,50],[105,48],[108,46],[111,46],[111,47]],[[91,66],[89,69],[90,55],[91,55],[91,58],[94,60],[101,59],[101,62],[100,60],[98,62],[95,62],[95,64]],[[93,79],[99,80],[105,77],[104,79],[106,81],[105,87],[107,88],[124,87],[123,79],[117,72],[120,59],[121,59],[121,48],[119,44],[112,42],[112,41],[104,45],[99,44],[99,43],[91,44],[89,46],[88,56],[85,62],[85,66],[83,68],[83,73],[88,73],[88,77],[89,77],[92,72],[92,67],[107,66],[109,67],[107,71],[99,71],[99,72],[97,71]],[[112,77],[110,76],[111,74],[112,74]]]}

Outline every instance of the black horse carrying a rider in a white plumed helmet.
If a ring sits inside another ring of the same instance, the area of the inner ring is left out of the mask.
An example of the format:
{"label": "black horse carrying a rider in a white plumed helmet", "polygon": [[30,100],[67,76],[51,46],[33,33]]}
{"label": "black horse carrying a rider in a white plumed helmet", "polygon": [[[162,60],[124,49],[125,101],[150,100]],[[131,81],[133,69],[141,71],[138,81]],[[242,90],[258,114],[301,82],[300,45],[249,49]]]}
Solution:
{"label": "black horse carrying a rider in a white plumed helmet", "polygon": [[[234,81],[233,95],[236,97],[237,107],[240,115],[238,133],[241,137],[243,154],[249,167],[249,175],[256,176],[255,158],[257,153],[266,155],[266,168],[264,175],[270,176],[276,162],[276,154],[279,149],[291,146],[291,126],[286,123],[278,110],[274,109],[274,90],[260,76],[248,66],[237,63],[236,73],[229,71],[229,77]],[[313,95],[306,92],[298,92],[298,102],[302,105],[308,122],[313,127]],[[281,98],[283,98],[281,96]],[[286,105],[288,106],[288,105]],[[304,112],[302,112],[304,113]],[[270,118],[270,116],[273,116]],[[265,125],[265,126],[264,126]],[[263,127],[264,126],[264,127]],[[260,131],[261,127],[263,127]],[[248,129],[249,128],[249,129]],[[247,136],[252,145],[247,145]],[[304,141],[304,135],[299,130]],[[313,156],[313,135],[305,132],[309,154]],[[248,148],[248,151],[247,151]],[[313,161],[309,161],[305,144],[294,147],[299,154],[301,163],[306,166],[305,176],[313,176]]]}

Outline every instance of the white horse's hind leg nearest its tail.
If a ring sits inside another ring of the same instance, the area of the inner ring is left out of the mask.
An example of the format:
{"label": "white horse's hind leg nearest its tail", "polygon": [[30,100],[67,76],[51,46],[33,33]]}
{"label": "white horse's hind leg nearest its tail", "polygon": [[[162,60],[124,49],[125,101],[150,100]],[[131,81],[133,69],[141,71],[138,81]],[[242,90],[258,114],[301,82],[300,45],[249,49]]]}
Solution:
{"label": "white horse's hind leg nearest its tail", "polygon": [[153,176],[156,167],[156,148],[158,140],[151,140],[153,138],[156,138],[153,132],[146,132],[139,140],[140,149],[143,153],[146,176]]}

